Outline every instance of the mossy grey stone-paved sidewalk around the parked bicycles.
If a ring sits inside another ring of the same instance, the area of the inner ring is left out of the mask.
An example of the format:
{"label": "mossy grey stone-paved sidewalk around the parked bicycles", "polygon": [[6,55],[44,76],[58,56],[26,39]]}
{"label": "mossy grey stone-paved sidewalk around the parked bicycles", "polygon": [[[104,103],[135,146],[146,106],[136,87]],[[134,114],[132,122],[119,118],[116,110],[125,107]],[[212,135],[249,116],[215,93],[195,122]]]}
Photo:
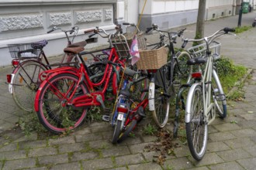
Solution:
{"label": "mossy grey stone-paved sidewalk around the parked bicycles", "polygon": [[[243,25],[250,25],[255,12],[243,15]],[[206,22],[206,35],[223,28],[237,26],[238,16]],[[195,25],[187,27],[188,35]],[[256,29],[235,38],[221,39],[222,53],[255,69]],[[143,121],[130,137],[120,145],[112,145],[112,128],[106,122],[85,124],[67,136],[43,138],[33,133],[26,137],[15,127],[19,117],[26,114],[14,104],[5,84],[5,75],[12,68],[0,69],[0,168],[2,169],[256,169],[256,73],[245,82],[244,101],[229,101],[228,116],[216,119],[209,126],[209,140],[205,157],[196,162],[189,153],[185,140],[178,143],[161,166],[154,162],[159,151],[146,151],[147,145],[157,144],[157,137],[141,133]],[[168,124],[167,129],[172,130]],[[182,143],[183,142],[183,143]]]}

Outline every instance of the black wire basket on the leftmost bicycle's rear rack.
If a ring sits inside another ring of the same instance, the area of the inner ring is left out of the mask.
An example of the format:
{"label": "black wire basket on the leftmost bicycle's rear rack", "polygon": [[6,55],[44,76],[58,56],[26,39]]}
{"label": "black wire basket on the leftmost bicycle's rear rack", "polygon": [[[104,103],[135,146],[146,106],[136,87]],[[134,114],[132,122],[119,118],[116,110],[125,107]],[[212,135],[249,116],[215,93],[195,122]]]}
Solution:
{"label": "black wire basket on the leftmost bicycle's rear rack", "polygon": [[37,58],[42,51],[42,49],[33,48],[35,43],[8,44],[7,46],[12,58],[18,59]]}

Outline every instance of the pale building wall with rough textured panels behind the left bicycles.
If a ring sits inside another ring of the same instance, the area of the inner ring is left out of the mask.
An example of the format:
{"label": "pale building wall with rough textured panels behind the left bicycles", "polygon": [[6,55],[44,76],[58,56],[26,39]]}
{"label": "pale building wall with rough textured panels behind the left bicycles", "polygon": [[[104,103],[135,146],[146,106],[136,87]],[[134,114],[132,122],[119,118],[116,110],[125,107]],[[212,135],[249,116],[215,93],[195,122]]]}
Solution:
{"label": "pale building wall with rough textured panels behind the left bicycles", "polygon": [[[114,8],[119,9],[114,12]],[[113,30],[116,18],[123,15],[122,1],[103,0],[2,0],[0,2],[0,66],[9,65],[7,44],[47,39],[47,56],[60,55],[67,40],[59,30],[47,34],[53,26],[68,30],[79,26],[76,42],[85,40],[85,29],[99,26]],[[122,18],[122,17],[121,17]]]}

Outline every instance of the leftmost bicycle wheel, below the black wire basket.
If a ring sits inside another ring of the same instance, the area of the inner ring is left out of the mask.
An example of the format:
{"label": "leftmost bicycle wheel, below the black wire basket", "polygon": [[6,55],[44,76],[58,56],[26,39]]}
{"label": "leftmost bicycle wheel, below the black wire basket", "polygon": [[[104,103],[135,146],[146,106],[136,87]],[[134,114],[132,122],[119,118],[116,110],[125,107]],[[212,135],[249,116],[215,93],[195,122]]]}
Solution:
{"label": "leftmost bicycle wheel, below the black wire basket", "polygon": [[12,97],[16,104],[26,111],[33,110],[36,90],[40,87],[39,74],[47,70],[46,66],[36,61],[21,63],[16,70],[12,81]]}

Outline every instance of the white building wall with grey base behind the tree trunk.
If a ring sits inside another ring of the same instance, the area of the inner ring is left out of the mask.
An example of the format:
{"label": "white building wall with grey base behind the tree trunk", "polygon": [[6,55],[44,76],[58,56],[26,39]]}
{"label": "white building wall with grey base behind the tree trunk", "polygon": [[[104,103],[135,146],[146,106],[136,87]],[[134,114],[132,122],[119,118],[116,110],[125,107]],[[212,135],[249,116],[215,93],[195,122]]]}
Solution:
{"label": "white building wall with grey base behind the tree trunk", "polygon": [[[144,1],[140,1],[140,12],[143,6]],[[199,0],[147,0],[140,29],[146,29],[153,23],[162,29],[195,23],[198,7]],[[234,0],[206,1],[207,20],[234,15],[234,10]]]}

